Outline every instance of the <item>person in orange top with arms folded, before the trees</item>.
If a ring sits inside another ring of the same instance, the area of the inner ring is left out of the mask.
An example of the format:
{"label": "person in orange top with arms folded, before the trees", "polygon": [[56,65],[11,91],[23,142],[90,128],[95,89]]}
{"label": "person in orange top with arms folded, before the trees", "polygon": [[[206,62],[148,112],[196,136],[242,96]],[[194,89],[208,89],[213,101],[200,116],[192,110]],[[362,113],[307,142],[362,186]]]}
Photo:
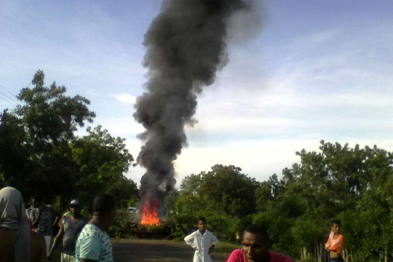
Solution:
{"label": "person in orange top with arms folded, before the trees", "polygon": [[344,262],[342,257],[342,251],[344,247],[344,236],[340,234],[341,222],[339,220],[333,220],[331,223],[331,233],[325,248],[329,251],[331,262]]}

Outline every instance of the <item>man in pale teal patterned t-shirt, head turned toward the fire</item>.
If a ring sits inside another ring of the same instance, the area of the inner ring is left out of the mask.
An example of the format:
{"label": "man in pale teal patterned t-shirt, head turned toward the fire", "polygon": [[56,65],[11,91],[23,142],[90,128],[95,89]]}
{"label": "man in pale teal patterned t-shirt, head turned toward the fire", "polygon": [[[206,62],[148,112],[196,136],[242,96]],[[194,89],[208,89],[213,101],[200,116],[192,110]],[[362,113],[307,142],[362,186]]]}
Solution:
{"label": "man in pale teal patterned t-shirt, head turned toward the fire", "polygon": [[79,234],[75,246],[75,261],[113,262],[112,243],[105,232],[116,215],[112,196],[101,194],[93,201],[93,217]]}

